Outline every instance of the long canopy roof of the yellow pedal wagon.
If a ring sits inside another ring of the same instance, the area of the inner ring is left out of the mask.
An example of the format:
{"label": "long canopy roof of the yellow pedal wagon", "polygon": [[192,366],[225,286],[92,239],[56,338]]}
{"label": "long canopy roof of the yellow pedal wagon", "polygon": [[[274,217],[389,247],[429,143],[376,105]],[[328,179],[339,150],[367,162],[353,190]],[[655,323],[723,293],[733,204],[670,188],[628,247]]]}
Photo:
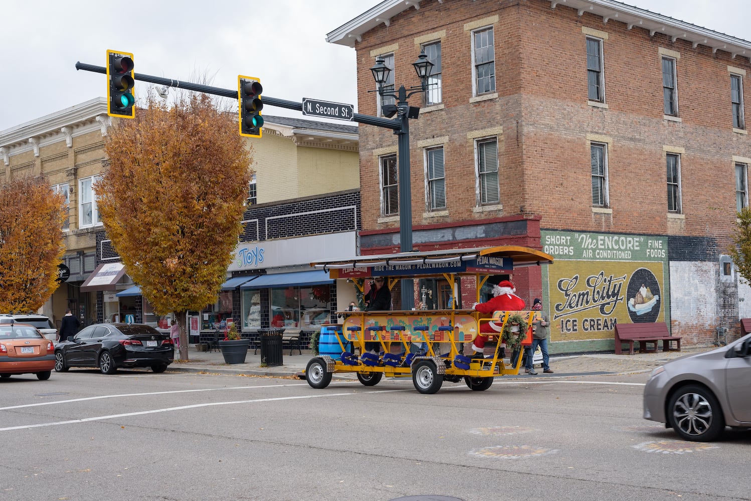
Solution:
{"label": "long canopy roof of the yellow pedal wagon", "polygon": [[343,260],[310,263],[310,266],[323,269],[329,273],[330,278],[365,278],[444,273],[493,275],[512,272],[524,266],[550,263],[553,263],[550,254],[517,245],[502,245],[355,256]]}

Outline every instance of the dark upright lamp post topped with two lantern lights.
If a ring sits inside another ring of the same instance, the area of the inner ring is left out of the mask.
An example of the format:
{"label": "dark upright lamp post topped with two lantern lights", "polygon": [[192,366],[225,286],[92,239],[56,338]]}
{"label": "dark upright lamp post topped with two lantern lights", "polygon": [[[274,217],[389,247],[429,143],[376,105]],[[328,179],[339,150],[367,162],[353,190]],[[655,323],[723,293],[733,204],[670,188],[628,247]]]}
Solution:
{"label": "dark upright lamp post topped with two lantern lights", "polygon": [[[384,85],[391,73],[391,68],[386,66],[384,59],[375,60],[375,66],[370,68],[373,80],[378,86],[376,92],[380,97],[390,97],[397,101],[397,104],[387,104],[381,107],[382,113],[391,118],[397,115],[396,120],[400,122],[400,127],[394,130],[398,137],[398,176],[399,176],[399,249],[401,252],[411,252],[412,249],[412,181],[410,178],[409,165],[409,118],[418,118],[420,108],[410,107],[407,99],[414,94],[426,92],[428,88],[428,78],[430,71],[433,70],[433,63],[428,61],[425,52],[421,52],[418,60],[412,63],[415,71],[420,77],[420,85],[412,86],[406,89],[400,86],[397,93],[385,92]],[[409,93],[408,93],[409,91]],[[415,307],[414,285],[411,280],[401,281],[402,290],[402,310],[411,310]]]}

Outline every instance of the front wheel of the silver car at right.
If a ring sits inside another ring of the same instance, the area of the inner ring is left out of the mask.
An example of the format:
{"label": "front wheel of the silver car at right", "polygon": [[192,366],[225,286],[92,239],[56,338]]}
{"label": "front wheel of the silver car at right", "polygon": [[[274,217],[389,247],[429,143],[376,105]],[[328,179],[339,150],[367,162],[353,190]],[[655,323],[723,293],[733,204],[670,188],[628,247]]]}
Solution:
{"label": "front wheel of the silver car at right", "polygon": [[717,399],[703,386],[683,386],[668,403],[671,427],[686,440],[711,442],[725,429]]}

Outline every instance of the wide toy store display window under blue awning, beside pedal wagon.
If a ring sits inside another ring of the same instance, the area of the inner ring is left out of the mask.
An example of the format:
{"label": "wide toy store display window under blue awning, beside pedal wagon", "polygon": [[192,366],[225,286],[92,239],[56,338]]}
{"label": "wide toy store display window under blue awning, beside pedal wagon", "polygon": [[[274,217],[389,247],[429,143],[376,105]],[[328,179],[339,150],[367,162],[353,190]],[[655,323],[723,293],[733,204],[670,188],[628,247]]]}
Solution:
{"label": "wide toy store display window under blue awning, beside pedal wagon", "polygon": [[315,329],[328,321],[329,286],[271,290],[271,326]]}

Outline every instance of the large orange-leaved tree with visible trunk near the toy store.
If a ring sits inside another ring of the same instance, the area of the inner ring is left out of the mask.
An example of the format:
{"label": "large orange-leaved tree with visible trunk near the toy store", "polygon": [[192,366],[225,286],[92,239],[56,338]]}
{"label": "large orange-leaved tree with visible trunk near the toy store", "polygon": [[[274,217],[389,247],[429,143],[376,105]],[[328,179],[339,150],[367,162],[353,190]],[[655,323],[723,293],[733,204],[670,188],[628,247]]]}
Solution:
{"label": "large orange-leaved tree with visible trunk near the toy store", "polygon": [[202,94],[171,107],[151,97],[105,151],[95,191],[107,236],[154,311],[176,315],[188,359],[185,314],[216,302],[242,231],[252,157],[237,113]]}

